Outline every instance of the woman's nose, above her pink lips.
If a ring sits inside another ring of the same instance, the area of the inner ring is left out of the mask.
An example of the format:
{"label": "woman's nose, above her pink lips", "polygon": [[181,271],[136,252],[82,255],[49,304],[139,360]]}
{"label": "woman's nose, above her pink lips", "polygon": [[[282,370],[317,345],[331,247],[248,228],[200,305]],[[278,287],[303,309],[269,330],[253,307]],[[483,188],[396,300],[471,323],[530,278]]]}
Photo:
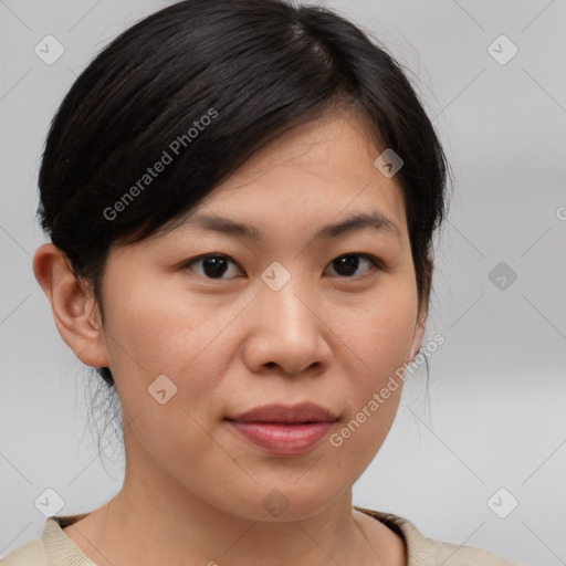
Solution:
{"label": "woman's nose, above her pink lips", "polygon": [[291,277],[279,291],[260,285],[243,350],[250,371],[277,368],[290,375],[312,375],[328,368],[333,332],[321,313],[321,297],[295,281]]}

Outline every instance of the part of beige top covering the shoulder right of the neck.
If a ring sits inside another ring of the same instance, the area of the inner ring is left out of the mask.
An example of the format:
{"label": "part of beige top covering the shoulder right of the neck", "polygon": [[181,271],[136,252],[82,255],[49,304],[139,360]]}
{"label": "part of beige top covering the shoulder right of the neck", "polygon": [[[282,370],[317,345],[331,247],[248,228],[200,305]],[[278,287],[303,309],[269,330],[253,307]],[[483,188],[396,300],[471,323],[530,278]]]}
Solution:
{"label": "part of beige top covering the shoulder right of the neck", "polygon": [[355,506],[399,533],[407,545],[407,566],[518,566],[490,551],[423,536],[407,518]]}

